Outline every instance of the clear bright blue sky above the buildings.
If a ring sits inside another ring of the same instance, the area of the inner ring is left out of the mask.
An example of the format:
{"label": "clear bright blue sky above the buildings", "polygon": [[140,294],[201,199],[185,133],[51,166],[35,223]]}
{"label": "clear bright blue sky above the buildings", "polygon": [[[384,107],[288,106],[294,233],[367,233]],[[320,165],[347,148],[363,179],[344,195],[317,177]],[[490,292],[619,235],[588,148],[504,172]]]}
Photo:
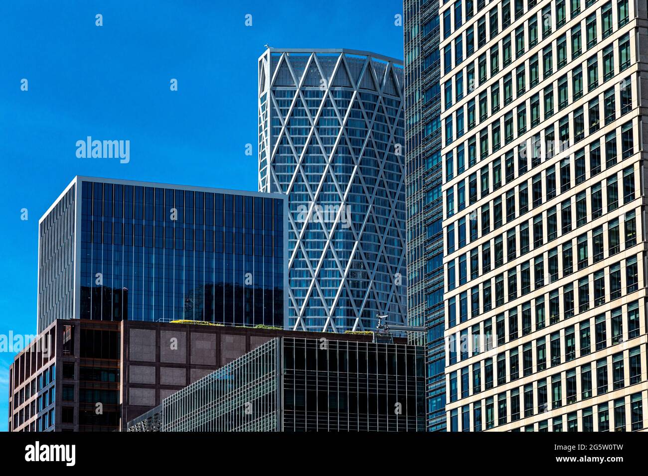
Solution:
{"label": "clear bright blue sky above the buildings", "polygon": [[[397,14],[399,0],[2,2],[0,334],[36,332],[38,219],[75,175],[256,190],[264,45],[402,58]],[[77,159],[88,135],[129,140],[130,163]]]}

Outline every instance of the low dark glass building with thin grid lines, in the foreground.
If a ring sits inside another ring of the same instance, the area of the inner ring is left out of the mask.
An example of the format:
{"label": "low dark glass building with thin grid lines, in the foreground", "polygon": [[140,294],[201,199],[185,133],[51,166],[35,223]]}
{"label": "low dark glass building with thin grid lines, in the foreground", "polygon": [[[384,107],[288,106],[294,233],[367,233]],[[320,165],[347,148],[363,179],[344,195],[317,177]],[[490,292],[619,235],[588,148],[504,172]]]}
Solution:
{"label": "low dark glass building with thin grid lines, in the foreground", "polygon": [[162,403],[162,431],[423,431],[424,349],[276,337]]}

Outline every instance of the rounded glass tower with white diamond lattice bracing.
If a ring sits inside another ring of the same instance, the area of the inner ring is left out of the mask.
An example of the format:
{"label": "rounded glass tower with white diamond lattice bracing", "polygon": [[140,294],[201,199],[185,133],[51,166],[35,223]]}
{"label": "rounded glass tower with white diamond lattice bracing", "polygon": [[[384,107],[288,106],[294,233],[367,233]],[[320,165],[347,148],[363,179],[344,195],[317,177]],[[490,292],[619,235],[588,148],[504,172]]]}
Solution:
{"label": "rounded glass tower with white diamond lattice bracing", "polygon": [[288,196],[288,325],[406,321],[402,62],[351,50],[259,58],[259,190]]}

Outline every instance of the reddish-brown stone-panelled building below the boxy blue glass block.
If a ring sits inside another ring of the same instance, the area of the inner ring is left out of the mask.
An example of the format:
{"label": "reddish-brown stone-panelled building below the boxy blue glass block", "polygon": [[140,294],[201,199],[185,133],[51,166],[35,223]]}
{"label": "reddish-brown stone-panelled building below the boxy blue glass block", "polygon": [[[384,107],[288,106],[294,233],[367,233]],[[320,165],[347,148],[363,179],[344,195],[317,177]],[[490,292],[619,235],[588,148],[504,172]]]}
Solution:
{"label": "reddish-brown stone-panelled building below the boxy blue glass block", "polygon": [[[142,321],[54,321],[10,367],[9,431],[115,431],[273,337],[330,334]],[[371,335],[336,334],[371,341]],[[400,341],[400,339],[395,339]]]}

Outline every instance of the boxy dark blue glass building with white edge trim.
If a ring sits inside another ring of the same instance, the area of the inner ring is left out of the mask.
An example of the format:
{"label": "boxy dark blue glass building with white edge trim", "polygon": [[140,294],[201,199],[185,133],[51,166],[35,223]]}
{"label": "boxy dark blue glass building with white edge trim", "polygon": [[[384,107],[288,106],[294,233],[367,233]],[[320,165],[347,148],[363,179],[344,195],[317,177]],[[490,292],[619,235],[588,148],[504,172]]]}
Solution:
{"label": "boxy dark blue glass building with white edge trim", "polygon": [[72,318],[283,328],[286,202],[75,177],[39,223],[38,332]]}

